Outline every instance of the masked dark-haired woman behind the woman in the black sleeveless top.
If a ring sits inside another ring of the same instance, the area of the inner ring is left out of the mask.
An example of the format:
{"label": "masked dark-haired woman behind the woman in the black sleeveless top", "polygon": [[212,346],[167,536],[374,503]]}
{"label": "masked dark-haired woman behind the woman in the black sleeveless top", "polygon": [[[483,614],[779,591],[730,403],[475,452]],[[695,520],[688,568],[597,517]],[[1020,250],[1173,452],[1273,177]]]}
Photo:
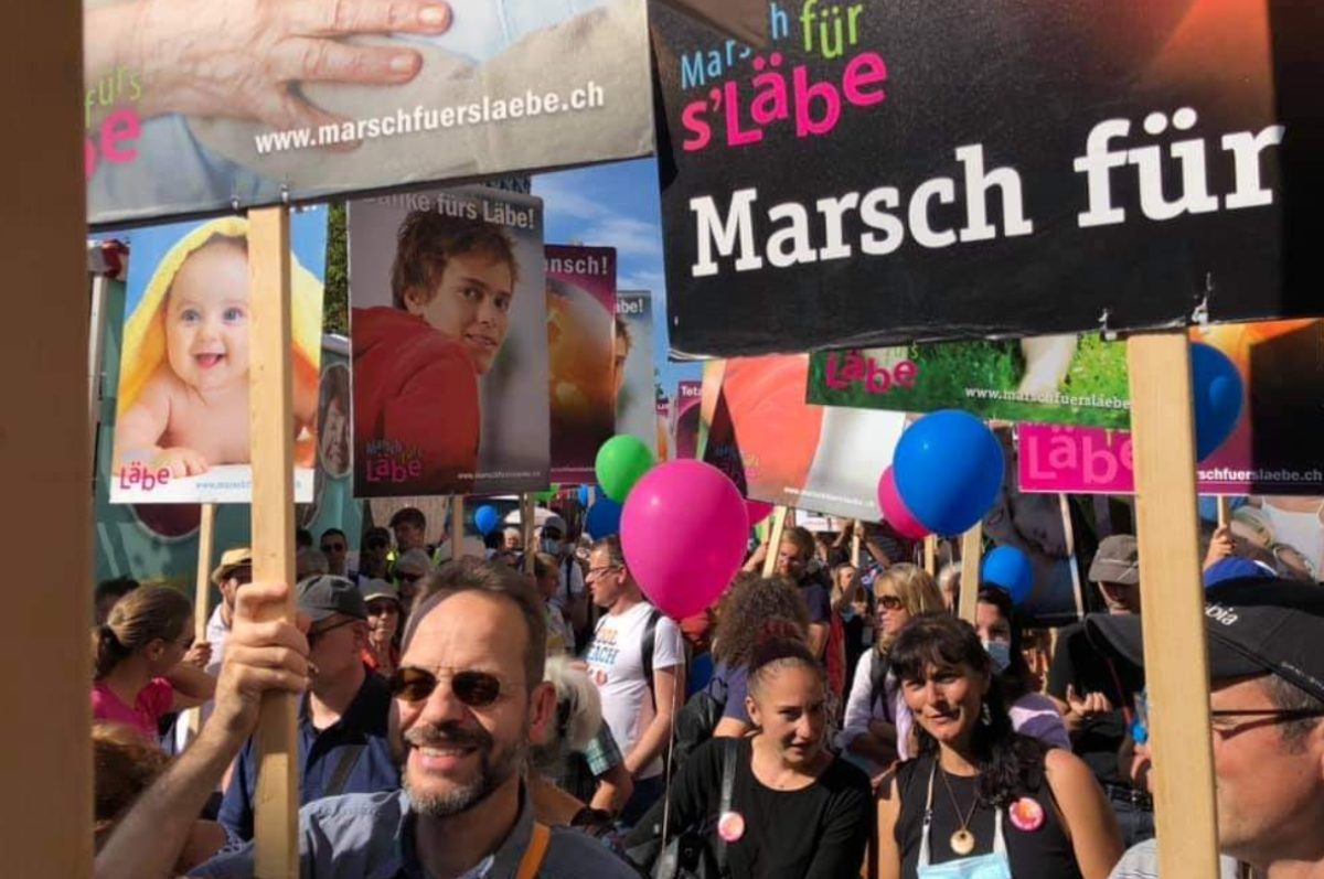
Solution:
{"label": "masked dark-haired woman behind the woman in the black sleeveless top", "polygon": [[1062,712],[1031,686],[1030,666],[1021,649],[1021,620],[1005,589],[993,585],[980,588],[974,631],[993,662],[993,674],[1002,684],[1012,727],[1049,748],[1071,751],[1071,736]]}

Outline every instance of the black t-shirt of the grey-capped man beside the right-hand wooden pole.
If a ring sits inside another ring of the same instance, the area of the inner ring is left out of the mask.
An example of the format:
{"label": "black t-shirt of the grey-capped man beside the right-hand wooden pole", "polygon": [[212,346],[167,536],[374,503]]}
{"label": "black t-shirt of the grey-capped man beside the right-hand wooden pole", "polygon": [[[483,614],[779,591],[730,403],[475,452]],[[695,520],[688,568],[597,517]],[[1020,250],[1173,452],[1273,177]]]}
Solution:
{"label": "black t-shirt of the grey-capped man beside the right-hand wooden pole", "polygon": [[1117,749],[1127,736],[1127,715],[1135,708],[1135,694],[1145,686],[1144,676],[1129,663],[1110,661],[1090,642],[1084,624],[1076,622],[1058,633],[1058,649],[1049,667],[1049,695],[1066,702],[1067,684],[1080,698],[1102,692],[1115,707],[1086,719],[1072,749],[1090,764],[1099,781],[1128,786],[1117,765]]}

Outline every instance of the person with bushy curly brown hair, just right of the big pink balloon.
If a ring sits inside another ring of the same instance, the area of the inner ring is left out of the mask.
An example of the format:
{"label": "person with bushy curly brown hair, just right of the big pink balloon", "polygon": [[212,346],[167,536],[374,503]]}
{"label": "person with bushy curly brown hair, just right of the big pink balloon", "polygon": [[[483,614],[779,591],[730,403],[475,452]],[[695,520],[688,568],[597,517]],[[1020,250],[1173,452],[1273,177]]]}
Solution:
{"label": "person with bushy curly brown hair, just right of the big pink balloon", "polygon": [[808,643],[809,606],[800,588],[782,577],[763,578],[743,573],[722,598],[714,631],[712,680],[708,692],[724,702],[714,737],[737,739],[751,728],[745,708],[749,662],[760,638],[769,631]]}

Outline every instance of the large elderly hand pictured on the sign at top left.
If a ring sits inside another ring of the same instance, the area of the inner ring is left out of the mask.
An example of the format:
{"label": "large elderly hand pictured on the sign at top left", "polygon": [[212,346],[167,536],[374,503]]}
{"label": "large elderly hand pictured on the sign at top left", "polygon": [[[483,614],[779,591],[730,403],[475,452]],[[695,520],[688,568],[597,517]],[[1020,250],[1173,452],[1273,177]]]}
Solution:
{"label": "large elderly hand pictured on the sign at top left", "polygon": [[126,68],[139,75],[146,116],[261,122],[301,128],[340,119],[308,103],[301,82],[399,85],[413,49],[347,45],[355,34],[441,34],[441,0],[131,0],[90,9],[86,79]]}

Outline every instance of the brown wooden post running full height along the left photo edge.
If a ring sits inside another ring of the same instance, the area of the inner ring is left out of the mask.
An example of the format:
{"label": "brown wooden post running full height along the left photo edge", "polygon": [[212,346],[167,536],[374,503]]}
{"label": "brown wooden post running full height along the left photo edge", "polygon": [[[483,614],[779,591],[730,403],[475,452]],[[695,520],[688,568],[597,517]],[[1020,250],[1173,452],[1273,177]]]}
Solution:
{"label": "brown wooden post running full height along the left photo edge", "polygon": [[79,405],[89,326],[82,4],[34,3],[9,19],[0,36],[0,114],[23,128],[0,143],[0,240],[15,294],[0,324],[0,485],[9,499],[0,547],[7,559],[40,560],[42,584],[5,590],[5,612],[21,622],[0,638],[11,706],[0,748],[9,793],[0,802],[0,872],[85,879],[93,849],[93,504],[87,410]]}

